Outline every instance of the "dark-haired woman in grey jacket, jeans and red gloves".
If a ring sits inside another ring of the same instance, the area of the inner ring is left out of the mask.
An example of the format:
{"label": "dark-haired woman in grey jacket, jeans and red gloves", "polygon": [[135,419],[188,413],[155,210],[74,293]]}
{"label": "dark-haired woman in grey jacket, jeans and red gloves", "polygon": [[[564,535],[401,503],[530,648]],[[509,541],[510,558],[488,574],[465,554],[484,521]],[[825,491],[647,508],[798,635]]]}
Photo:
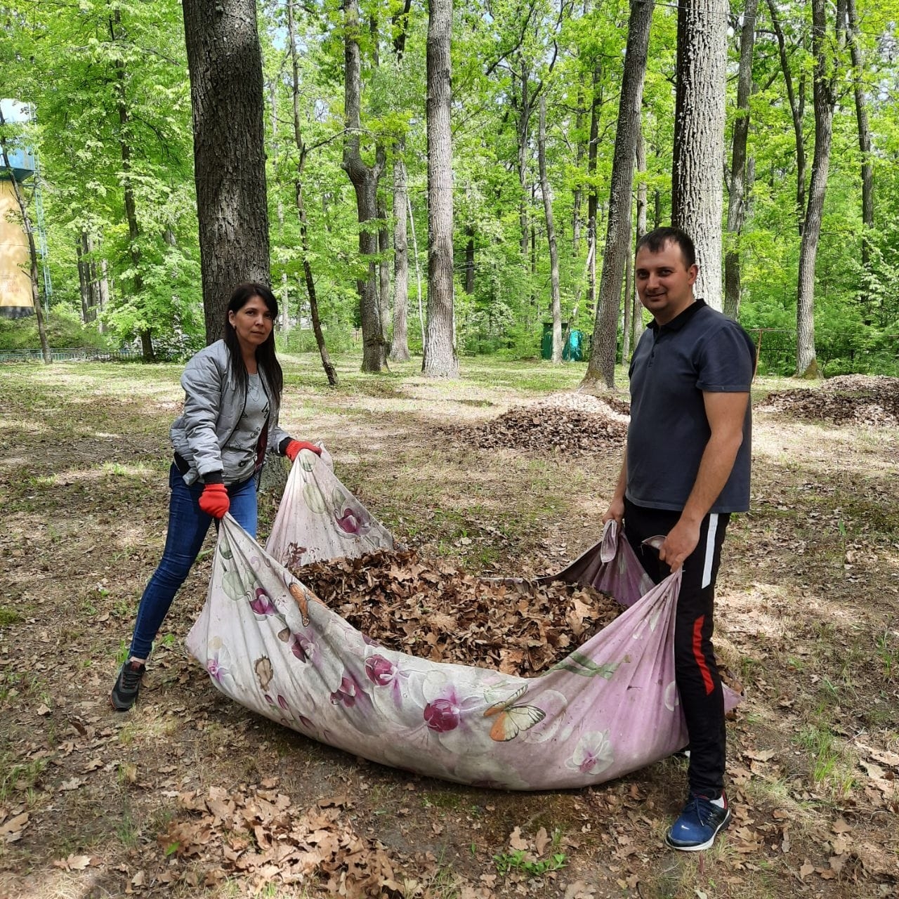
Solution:
{"label": "dark-haired woman in grey jacket, jeans and red gloves", "polygon": [[140,598],[129,657],[112,688],[127,711],[174,595],[196,561],[212,519],[226,512],[256,536],[256,473],[266,450],[292,462],[300,449],[278,427],[284,379],[272,333],[278,301],[263,284],[241,284],[227,305],[224,338],[198,352],[182,374],[184,412],[172,425],[168,536],[162,561]]}

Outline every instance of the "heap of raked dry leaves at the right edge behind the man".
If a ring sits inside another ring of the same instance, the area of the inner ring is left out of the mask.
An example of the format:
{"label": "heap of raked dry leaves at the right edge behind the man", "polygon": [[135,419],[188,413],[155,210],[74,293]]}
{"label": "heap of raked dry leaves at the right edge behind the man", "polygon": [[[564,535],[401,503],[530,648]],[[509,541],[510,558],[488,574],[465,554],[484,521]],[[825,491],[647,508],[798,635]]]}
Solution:
{"label": "heap of raked dry leaves at the right edge behind the man", "polygon": [[771,393],[756,408],[809,422],[894,427],[899,423],[899,378],[841,375],[818,389]]}

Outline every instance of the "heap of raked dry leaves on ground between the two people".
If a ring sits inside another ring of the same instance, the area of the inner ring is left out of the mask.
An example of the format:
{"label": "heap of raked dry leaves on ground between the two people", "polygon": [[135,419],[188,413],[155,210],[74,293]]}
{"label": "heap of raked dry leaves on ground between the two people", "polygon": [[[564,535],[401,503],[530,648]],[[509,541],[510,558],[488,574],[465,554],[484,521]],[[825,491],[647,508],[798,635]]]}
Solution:
{"label": "heap of raked dry leaves on ground between the two people", "polygon": [[493,421],[447,431],[454,441],[481,449],[535,452],[606,452],[628,434],[627,402],[617,397],[555,394],[532,405],[515,406]]}

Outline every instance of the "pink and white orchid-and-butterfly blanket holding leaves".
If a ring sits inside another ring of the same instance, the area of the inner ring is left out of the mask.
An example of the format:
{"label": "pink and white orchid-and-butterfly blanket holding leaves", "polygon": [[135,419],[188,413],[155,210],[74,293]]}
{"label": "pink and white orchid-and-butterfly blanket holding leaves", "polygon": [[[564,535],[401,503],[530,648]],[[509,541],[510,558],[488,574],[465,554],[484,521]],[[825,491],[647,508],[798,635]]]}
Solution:
{"label": "pink and white orchid-and-butterfly blanket holding leaves", "polygon": [[[286,567],[393,545],[330,456],[304,450],[265,549],[230,516],[222,521],[191,654],[218,690],[301,734],[476,786],[583,787],[687,743],[672,648],[681,575],[653,586],[614,522],[547,579],[592,583],[628,609],[535,678],[384,648]],[[727,705],[736,701],[728,691]]]}

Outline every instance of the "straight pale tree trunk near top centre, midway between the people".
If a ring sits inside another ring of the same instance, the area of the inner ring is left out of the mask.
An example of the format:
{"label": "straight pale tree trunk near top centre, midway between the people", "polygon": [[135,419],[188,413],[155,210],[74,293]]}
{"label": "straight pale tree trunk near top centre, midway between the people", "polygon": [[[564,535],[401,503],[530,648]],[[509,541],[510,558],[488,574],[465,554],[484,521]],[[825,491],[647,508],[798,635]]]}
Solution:
{"label": "straight pale tree trunk near top centre, midway between the people", "polygon": [[428,326],[422,370],[432,378],[458,377],[453,346],[452,131],[449,40],[452,0],[428,10]]}

